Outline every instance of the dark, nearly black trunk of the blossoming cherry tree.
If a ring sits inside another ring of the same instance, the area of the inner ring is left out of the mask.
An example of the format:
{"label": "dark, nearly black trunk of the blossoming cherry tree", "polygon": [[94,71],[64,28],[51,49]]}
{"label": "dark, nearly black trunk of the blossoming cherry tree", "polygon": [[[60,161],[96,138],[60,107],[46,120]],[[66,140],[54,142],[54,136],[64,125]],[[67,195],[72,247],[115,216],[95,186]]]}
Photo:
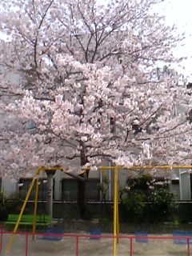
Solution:
{"label": "dark, nearly black trunk of the blossoming cherry tree", "polygon": [[[82,144],[82,150],[81,150],[81,166],[86,165],[86,150],[85,146]],[[86,180],[89,176],[89,171],[87,170],[85,174],[81,174],[81,177],[84,177],[84,179],[78,179],[78,208],[80,213],[80,218],[82,219],[90,219],[90,209],[87,206],[86,202]]]}

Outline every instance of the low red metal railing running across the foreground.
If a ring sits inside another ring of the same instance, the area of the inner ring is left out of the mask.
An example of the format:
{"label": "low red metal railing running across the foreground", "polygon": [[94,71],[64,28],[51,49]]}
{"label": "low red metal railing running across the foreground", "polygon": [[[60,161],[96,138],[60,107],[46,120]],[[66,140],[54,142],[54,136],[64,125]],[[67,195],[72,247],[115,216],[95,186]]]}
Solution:
{"label": "low red metal railing running across the foreground", "polygon": [[[0,230],[0,254],[2,254],[2,243],[3,243],[3,239],[5,234],[10,234],[13,235],[13,232],[9,232],[9,231],[5,231],[5,230]],[[80,242],[80,238],[100,238],[101,240],[103,238],[107,238],[107,239],[114,239],[114,238],[118,238],[118,240],[120,239],[126,239],[127,241],[127,245],[129,245],[129,254],[130,256],[134,256],[134,242],[136,240],[136,238],[138,239],[146,239],[147,241],[157,241],[157,240],[163,240],[163,241],[169,241],[172,240],[174,242],[175,239],[177,239],[179,241],[179,239],[181,239],[182,241],[186,241],[186,247],[184,247],[184,251],[186,250],[186,256],[190,256],[190,243],[192,242],[192,237],[176,237],[176,236],[166,236],[166,235],[148,235],[147,237],[145,236],[135,236],[135,235],[119,235],[117,237],[113,236],[113,235],[90,235],[90,234],[51,234],[51,233],[29,233],[29,232],[16,232],[14,235],[22,235],[22,238],[25,238],[25,248],[22,248],[22,250],[25,250],[25,256],[29,256],[28,253],[28,246],[29,246],[29,238],[33,238],[33,236],[35,235],[35,237],[40,237],[40,236],[51,236],[51,237],[62,237],[62,238],[74,238],[75,239],[75,255],[76,256],[81,256],[80,252],[79,252],[79,242]],[[23,237],[24,236],[24,237]],[[112,244],[111,244],[112,246]],[[139,244],[137,246],[140,246]],[[185,249],[186,248],[186,249]],[[3,248],[4,249],[4,248]],[[54,252],[53,252],[54,253]],[[173,254],[174,255],[174,254]],[[183,254],[185,255],[185,254]]]}

